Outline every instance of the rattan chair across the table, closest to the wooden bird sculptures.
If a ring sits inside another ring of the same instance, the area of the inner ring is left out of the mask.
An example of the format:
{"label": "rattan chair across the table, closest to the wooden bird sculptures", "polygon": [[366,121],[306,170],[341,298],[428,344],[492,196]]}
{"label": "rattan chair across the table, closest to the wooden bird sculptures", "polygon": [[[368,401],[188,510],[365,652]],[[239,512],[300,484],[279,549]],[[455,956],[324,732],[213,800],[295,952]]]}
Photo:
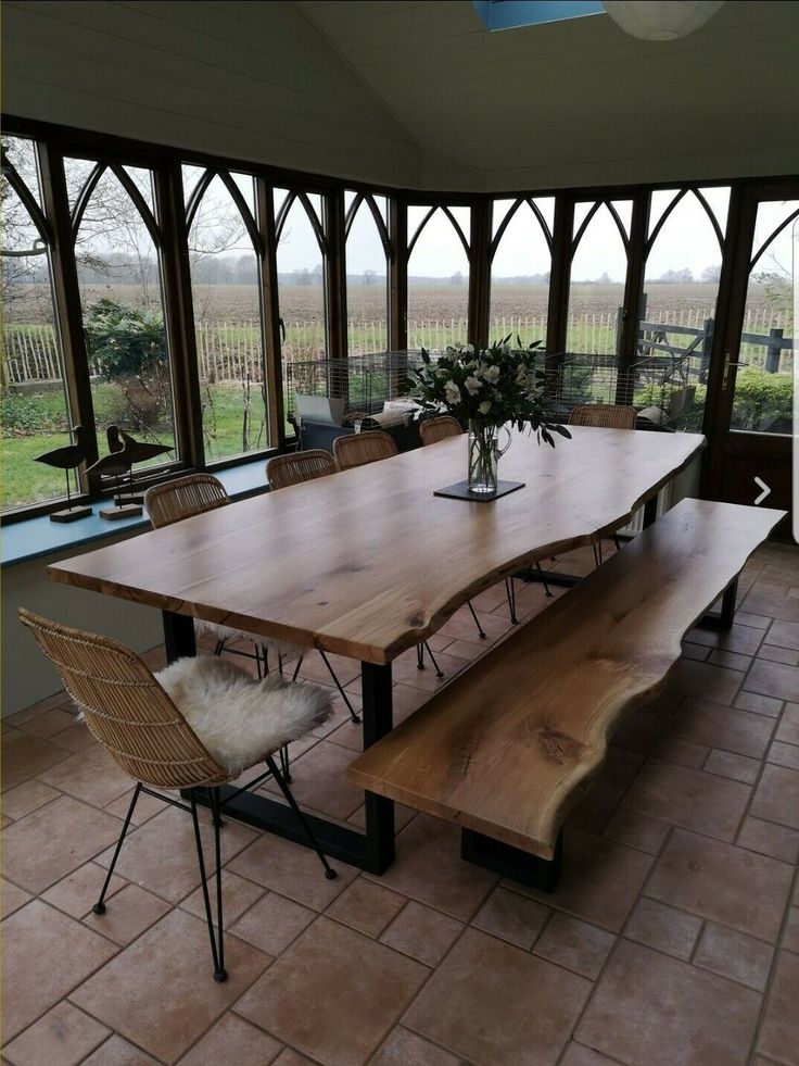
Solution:
{"label": "rattan chair across the table, closest to the wooden bird sculptures", "polygon": [[[215,511],[217,507],[227,506],[232,500],[227,493],[221,481],[213,474],[189,474],[187,477],[179,477],[174,481],[164,481],[163,485],[155,485],[144,493],[144,506],[147,507],[153,529],[162,526],[170,526],[183,518],[192,518],[194,515],[204,514],[206,511]],[[216,644],[214,654],[221,655],[228,651],[234,655],[243,655],[246,659],[254,659],[258,669],[258,676],[268,673],[269,669],[269,648],[275,647],[280,660],[283,647],[274,645],[270,641],[264,640],[255,634],[243,632],[240,629],[231,629],[230,626],[217,625],[213,622],[196,622],[198,632],[208,634],[214,637]],[[254,652],[244,652],[239,649],[226,648],[234,640],[246,640],[253,644]]]}

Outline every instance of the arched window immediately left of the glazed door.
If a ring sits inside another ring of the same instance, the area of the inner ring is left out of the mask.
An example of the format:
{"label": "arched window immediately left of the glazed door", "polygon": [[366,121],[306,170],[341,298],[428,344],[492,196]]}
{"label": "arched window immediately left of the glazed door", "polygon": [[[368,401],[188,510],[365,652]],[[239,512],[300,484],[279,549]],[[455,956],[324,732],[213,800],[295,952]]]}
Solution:
{"label": "arched window immediately left of the glazed door", "polygon": [[672,386],[649,399],[670,425],[700,430],[715,328],[730,188],[652,192],[645,249],[637,358]]}

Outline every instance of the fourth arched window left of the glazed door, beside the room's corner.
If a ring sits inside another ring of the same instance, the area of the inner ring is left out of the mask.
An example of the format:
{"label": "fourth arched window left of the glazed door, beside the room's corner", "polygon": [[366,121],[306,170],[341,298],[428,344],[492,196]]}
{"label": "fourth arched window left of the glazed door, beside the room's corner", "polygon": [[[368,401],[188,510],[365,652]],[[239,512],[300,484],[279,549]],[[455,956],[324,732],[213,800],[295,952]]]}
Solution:
{"label": "fourth arched window left of the glazed door, beside the room's corner", "polygon": [[408,208],[408,348],[466,343],[469,240],[468,208]]}

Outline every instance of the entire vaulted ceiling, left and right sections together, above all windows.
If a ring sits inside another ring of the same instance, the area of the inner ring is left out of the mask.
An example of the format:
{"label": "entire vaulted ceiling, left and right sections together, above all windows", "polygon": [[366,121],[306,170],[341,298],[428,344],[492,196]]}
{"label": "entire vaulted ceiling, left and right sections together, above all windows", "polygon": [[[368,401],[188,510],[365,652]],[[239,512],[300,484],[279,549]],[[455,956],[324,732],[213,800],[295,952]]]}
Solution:
{"label": "entire vaulted ceiling, left and right sections together, above all windows", "polygon": [[799,171],[799,2],[652,43],[490,33],[469,0],[4,0],[3,109],[388,186],[513,191]]}

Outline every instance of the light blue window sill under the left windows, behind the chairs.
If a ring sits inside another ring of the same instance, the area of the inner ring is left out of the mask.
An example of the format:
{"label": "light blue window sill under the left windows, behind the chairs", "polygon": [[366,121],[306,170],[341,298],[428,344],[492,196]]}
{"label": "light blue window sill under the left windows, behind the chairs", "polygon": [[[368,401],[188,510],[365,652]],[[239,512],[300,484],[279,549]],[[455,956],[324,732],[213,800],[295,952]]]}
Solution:
{"label": "light blue window sill under the left windows, behind the chairs", "polygon": [[[233,500],[243,500],[266,491],[265,460],[258,459],[250,463],[240,463],[228,469],[216,472],[228,493]],[[34,559],[52,555],[55,552],[69,551],[83,544],[93,544],[110,537],[118,536],[134,529],[149,529],[150,519],[147,514],[138,518],[119,518],[106,522],[98,512],[107,506],[107,501],[92,506],[91,517],[78,518],[77,522],[61,524],[51,522],[48,515],[40,518],[23,519],[4,526],[2,530],[3,567],[17,563],[27,563]],[[100,547],[99,544],[97,547]]]}

